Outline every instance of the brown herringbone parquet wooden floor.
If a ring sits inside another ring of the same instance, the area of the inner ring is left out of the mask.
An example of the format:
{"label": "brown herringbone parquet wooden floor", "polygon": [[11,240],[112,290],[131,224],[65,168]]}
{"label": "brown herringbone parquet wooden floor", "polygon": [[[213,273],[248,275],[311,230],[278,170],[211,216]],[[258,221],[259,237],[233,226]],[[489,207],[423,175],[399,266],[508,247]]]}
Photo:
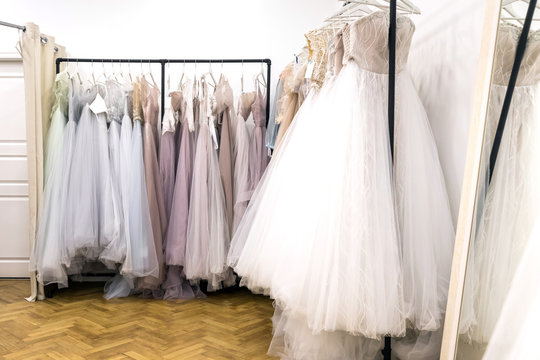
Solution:
{"label": "brown herringbone parquet wooden floor", "polygon": [[75,284],[30,303],[27,280],[0,280],[0,359],[266,359],[273,308],[246,289],[205,300],[105,300]]}

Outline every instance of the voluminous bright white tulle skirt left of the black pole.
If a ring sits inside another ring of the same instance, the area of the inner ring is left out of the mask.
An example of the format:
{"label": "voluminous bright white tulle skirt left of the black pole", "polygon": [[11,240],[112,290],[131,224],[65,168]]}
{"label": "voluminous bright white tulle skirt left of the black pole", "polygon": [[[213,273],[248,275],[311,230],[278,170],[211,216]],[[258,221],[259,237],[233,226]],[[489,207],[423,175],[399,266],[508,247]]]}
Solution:
{"label": "voluminous bright white tulle skirt left of the black pole", "polygon": [[242,283],[314,333],[405,332],[386,88],[351,63],[310,91],[233,238]]}

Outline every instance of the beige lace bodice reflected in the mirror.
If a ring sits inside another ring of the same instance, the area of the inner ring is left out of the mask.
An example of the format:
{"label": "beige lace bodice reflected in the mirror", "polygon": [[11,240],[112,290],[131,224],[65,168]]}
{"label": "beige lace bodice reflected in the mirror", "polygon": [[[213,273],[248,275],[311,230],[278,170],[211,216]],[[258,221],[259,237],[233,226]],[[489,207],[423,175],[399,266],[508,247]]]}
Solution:
{"label": "beige lace bodice reflected in the mirror", "polygon": [[[510,25],[502,24],[497,35],[497,47],[495,49],[495,60],[493,64],[493,83],[496,85],[508,85],[516,48],[521,35],[521,29]],[[529,33],[527,48],[521,61],[517,86],[534,85],[540,81],[540,32]]]}

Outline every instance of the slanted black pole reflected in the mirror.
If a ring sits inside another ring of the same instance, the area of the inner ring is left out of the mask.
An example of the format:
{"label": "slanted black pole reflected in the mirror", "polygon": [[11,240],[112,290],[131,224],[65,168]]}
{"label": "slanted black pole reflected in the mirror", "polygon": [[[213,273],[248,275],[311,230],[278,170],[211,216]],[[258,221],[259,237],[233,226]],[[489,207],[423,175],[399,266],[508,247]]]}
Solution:
{"label": "slanted black pole reflected in the mirror", "polygon": [[489,182],[491,182],[493,172],[495,171],[495,163],[497,161],[499,147],[501,146],[504,126],[506,124],[508,111],[510,110],[510,104],[512,103],[512,95],[514,93],[514,88],[516,87],[521,60],[523,60],[523,55],[525,54],[525,49],[527,48],[527,37],[529,36],[529,30],[531,29],[531,22],[535,9],[536,0],[530,0],[529,7],[527,8],[527,16],[525,17],[525,23],[523,24],[523,30],[521,30],[521,35],[519,36],[519,42],[516,48],[516,57],[514,58],[512,73],[510,74],[510,80],[508,81],[508,88],[506,89],[506,94],[504,95],[503,107],[501,110],[501,116],[499,117],[499,123],[497,124],[497,131],[495,132],[493,147],[491,148],[491,154],[489,156]]}

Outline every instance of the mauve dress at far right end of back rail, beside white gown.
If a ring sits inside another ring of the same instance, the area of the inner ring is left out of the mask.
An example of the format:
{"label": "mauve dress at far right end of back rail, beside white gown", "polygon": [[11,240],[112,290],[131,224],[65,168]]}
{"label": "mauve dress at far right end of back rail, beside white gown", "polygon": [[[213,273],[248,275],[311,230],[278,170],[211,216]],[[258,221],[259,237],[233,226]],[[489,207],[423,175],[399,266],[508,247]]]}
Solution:
{"label": "mauve dress at far right end of back rail, beside white gown", "polygon": [[249,144],[249,185],[254,191],[268,165],[268,153],[266,150],[266,94],[264,97],[257,85],[257,96],[251,105],[255,129]]}

